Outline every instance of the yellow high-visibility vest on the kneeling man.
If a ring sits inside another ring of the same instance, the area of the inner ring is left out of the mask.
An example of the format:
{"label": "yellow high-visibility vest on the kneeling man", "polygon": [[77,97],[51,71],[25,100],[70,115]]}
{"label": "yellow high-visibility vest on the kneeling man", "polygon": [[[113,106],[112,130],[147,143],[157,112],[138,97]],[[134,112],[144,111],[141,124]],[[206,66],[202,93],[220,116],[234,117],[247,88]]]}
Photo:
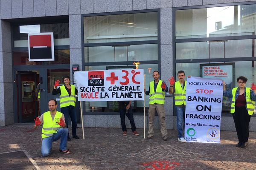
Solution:
{"label": "yellow high-visibility vest on the kneeling man", "polygon": [[54,133],[57,132],[59,128],[61,128],[58,123],[60,121],[60,118],[62,116],[61,112],[58,112],[55,114],[54,119],[52,120],[52,116],[50,111],[47,111],[44,113],[44,124],[42,128],[42,138],[47,138],[49,136],[52,136]]}

